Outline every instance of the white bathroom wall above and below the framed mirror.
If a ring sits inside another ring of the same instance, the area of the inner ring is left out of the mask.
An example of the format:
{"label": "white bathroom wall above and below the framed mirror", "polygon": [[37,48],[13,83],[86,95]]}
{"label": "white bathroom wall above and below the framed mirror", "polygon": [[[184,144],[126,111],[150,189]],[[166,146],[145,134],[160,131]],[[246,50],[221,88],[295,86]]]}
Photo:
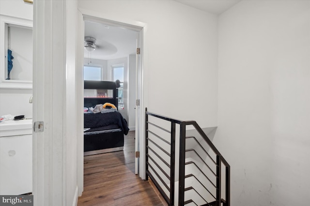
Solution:
{"label": "white bathroom wall above and below the framed mirror", "polygon": [[[0,15],[8,15],[28,20],[33,19],[32,4],[22,0],[0,0]],[[32,62],[32,59],[29,59]],[[13,71],[13,70],[12,70]],[[32,104],[29,99],[32,89],[0,89],[0,117],[11,114],[13,116],[25,115],[32,118]]]}

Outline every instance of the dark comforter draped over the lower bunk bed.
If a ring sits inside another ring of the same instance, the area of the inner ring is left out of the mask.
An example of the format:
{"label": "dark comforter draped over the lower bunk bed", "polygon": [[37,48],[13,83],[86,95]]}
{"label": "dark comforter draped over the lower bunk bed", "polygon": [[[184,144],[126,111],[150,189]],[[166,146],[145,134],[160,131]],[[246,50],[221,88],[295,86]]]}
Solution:
{"label": "dark comforter draped over the lower bunk bed", "polygon": [[84,128],[104,127],[112,124],[117,124],[127,135],[129,128],[121,113],[84,113]]}

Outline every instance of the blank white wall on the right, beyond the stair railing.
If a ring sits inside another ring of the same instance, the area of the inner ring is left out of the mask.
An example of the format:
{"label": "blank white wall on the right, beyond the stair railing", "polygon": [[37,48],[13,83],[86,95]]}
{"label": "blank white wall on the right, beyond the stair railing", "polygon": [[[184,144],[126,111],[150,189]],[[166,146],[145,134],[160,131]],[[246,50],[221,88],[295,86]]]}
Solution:
{"label": "blank white wall on the right, beyond the stair railing", "polygon": [[219,16],[218,129],[233,206],[310,194],[310,1],[245,0]]}

